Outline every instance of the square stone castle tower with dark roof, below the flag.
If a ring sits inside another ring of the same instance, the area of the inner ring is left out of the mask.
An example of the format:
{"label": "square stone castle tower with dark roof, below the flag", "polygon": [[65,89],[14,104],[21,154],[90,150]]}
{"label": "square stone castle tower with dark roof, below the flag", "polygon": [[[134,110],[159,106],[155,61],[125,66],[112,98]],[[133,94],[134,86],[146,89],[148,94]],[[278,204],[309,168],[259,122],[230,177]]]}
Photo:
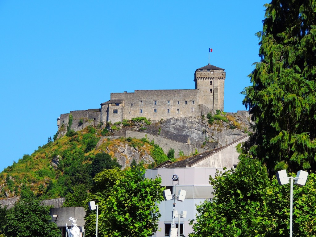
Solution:
{"label": "square stone castle tower with dark roof, below the flag", "polygon": [[194,73],[195,89],[199,90],[199,104],[224,111],[225,69],[208,64]]}

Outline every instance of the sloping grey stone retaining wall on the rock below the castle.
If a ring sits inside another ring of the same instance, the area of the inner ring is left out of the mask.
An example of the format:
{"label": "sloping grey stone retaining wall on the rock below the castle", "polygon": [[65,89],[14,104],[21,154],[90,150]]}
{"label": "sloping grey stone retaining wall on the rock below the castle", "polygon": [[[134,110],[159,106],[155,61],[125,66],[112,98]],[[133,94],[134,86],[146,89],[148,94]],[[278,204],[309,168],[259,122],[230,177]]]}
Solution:
{"label": "sloping grey stone retaining wall on the rock below the castle", "polygon": [[191,153],[195,153],[195,149],[199,153],[208,151],[206,149],[195,148],[192,145],[176,142],[167,138],[158,137],[152,134],[143,133],[143,132],[135,132],[135,131],[126,131],[125,137],[135,137],[137,139],[141,139],[143,137],[147,137],[149,141],[154,140],[155,144],[159,144],[159,146],[163,149],[164,153],[167,154],[168,151],[173,148],[174,149],[174,158],[179,158],[179,150],[182,150],[184,155],[190,155]]}

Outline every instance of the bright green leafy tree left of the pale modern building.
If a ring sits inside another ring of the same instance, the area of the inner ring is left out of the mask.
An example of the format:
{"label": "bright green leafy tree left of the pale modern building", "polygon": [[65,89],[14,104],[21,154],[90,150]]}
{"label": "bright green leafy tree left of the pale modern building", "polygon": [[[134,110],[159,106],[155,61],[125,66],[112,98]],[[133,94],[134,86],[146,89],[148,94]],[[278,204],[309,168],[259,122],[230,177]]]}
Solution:
{"label": "bright green leafy tree left of the pale modern building", "polygon": [[[91,200],[99,204],[98,233],[102,236],[147,237],[157,231],[163,200],[161,178],[145,179],[143,170],[104,170],[95,178]],[[102,190],[103,187],[103,190]],[[86,234],[95,233],[95,212],[88,212]]]}

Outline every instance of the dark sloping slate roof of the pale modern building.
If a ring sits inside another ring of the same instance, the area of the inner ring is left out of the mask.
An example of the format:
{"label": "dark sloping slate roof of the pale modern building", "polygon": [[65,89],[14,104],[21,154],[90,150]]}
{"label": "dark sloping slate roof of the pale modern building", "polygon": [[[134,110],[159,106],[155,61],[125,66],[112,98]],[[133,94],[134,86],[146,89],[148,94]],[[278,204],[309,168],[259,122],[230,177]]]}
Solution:
{"label": "dark sloping slate roof of the pale modern building", "polygon": [[196,163],[198,163],[200,161],[203,161],[204,159],[210,157],[211,155],[216,154],[217,152],[219,152],[219,151],[225,149],[226,147],[228,147],[228,146],[230,146],[230,145],[232,145],[232,144],[244,139],[247,136],[249,136],[249,135],[242,136],[239,139],[235,140],[234,142],[227,144],[226,146],[222,146],[220,148],[216,148],[216,149],[211,150],[211,151],[206,151],[206,152],[203,152],[201,154],[188,157],[188,158],[186,158],[186,159],[184,159],[182,161],[175,161],[173,163],[171,163],[171,161],[169,161],[169,162],[166,161],[166,162],[160,164],[159,166],[157,166],[155,168],[185,168],[185,167],[191,167],[192,165],[195,165]]}

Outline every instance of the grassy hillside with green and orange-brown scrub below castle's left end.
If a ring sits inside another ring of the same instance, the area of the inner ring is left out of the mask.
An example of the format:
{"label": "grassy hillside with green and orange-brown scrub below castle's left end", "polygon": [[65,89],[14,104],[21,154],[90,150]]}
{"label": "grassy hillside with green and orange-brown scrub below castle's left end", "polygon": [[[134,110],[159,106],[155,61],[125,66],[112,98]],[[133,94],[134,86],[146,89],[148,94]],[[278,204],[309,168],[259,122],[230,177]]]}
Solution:
{"label": "grassy hillside with green and orange-brown scrub below castle's left end", "polygon": [[[89,190],[95,155],[109,150],[113,158],[115,149],[122,143],[137,148],[141,155],[147,152],[156,164],[167,160],[162,149],[146,138],[108,140],[95,149],[103,132],[91,126],[78,132],[70,131],[66,136],[40,146],[33,154],[23,155],[22,159],[0,173],[0,198],[36,196],[49,199],[65,197],[78,186]],[[57,162],[57,159],[58,167],[54,169],[51,162]]]}

